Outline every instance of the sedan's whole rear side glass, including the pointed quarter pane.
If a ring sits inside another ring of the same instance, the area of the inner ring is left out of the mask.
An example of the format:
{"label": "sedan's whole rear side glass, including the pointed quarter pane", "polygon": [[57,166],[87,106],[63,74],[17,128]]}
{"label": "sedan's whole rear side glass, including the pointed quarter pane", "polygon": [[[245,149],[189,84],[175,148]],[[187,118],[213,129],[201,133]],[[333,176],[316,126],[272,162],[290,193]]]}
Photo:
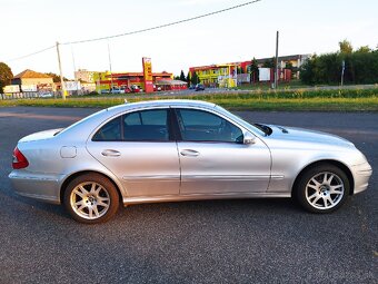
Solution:
{"label": "sedan's whole rear side glass, including the pointed quarter pane", "polygon": [[119,116],[103,125],[93,141],[168,141],[167,109],[141,110]]}

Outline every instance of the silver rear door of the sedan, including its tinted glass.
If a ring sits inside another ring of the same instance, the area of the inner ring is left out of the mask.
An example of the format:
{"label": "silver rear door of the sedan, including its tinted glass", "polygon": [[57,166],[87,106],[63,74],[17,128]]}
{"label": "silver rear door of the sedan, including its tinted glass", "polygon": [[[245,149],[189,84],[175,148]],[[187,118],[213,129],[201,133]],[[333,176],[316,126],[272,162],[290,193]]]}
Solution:
{"label": "silver rear door of the sedan, including its tinted glass", "polygon": [[129,197],[178,195],[180,167],[169,108],[128,112],[107,121],[88,151],[123,184]]}

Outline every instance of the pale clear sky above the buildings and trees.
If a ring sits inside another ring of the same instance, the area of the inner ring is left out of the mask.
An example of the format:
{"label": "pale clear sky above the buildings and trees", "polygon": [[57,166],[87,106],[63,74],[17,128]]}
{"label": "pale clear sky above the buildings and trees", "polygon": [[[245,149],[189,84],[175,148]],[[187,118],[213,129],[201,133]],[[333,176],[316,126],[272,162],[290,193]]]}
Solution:
{"label": "pale clear sky above the buildings and trees", "polygon": [[[57,41],[108,37],[209,13],[248,0],[0,0],[0,62],[59,74],[57,49],[17,59]],[[189,67],[279,56],[326,53],[347,39],[378,47],[377,0],[260,0],[177,26],[109,40],[60,45],[63,75],[73,71],[152,71],[179,75]],[[110,52],[109,52],[110,50]],[[110,60],[109,60],[110,55]]]}

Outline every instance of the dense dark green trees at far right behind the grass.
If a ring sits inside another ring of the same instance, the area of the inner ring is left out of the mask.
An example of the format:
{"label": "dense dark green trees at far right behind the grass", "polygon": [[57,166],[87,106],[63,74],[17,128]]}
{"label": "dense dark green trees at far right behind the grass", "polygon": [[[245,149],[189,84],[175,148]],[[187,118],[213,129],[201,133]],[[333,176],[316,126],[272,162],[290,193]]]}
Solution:
{"label": "dense dark green trees at far right behind the grass", "polygon": [[[314,55],[300,68],[300,79],[306,85],[338,85],[378,82],[378,47],[354,49],[347,40],[339,42],[339,51]],[[344,70],[342,70],[344,69]]]}

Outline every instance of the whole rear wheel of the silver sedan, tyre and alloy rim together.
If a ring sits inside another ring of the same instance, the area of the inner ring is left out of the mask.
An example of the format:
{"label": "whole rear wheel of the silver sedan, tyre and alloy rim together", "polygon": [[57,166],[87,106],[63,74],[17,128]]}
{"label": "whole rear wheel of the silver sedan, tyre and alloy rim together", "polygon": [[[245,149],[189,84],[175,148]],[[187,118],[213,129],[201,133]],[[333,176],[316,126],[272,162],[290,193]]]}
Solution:
{"label": "whole rear wheel of the silver sedan, tyre and alloy rim together", "polygon": [[86,224],[109,221],[118,210],[116,186],[99,174],[84,174],[73,178],[64,192],[64,207],[73,219]]}

